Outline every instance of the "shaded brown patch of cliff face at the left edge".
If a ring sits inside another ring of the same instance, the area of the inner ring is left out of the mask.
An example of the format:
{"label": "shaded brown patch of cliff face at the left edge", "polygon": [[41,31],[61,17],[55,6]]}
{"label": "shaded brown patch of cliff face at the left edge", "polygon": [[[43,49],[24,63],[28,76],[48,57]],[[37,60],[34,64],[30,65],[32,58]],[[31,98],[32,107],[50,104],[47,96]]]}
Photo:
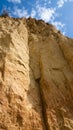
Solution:
{"label": "shaded brown patch of cliff face at the left edge", "polygon": [[2,30],[2,36],[0,38],[0,72],[2,80],[4,80],[5,75],[6,56],[10,50],[10,39],[10,34]]}

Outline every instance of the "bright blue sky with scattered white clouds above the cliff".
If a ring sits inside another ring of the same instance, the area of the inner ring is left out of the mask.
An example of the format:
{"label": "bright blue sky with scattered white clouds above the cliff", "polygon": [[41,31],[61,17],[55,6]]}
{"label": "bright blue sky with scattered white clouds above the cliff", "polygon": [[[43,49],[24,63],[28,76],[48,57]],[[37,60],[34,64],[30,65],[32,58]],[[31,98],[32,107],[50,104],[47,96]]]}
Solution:
{"label": "bright blue sky with scattered white clouds above the cliff", "polygon": [[73,38],[73,0],[0,0],[0,12],[3,8],[12,17],[42,19]]}

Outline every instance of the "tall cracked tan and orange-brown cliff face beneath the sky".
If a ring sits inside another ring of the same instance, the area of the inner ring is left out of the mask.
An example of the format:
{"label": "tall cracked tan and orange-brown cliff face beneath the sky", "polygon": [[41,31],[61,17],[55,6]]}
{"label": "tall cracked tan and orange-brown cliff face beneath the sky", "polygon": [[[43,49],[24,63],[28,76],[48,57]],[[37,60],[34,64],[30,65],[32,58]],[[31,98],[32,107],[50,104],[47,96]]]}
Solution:
{"label": "tall cracked tan and orange-brown cliff face beneath the sky", "polygon": [[73,130],[73,39],[0,18],[0,130]]}

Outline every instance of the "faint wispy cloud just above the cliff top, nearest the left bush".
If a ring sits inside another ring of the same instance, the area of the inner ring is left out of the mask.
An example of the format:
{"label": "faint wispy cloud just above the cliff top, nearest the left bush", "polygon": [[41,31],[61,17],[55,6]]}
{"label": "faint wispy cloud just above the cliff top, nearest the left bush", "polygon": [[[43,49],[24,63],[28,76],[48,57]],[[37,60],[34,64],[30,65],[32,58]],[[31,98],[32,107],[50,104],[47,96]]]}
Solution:
{"label": "faint wispy cloud just above the cliff top, nearest the left bush", "polygon": [[29,17],[28,11],[24,7],[22,7],[21,9],[18,7],[14,7],[14,11],[12,12],[12,14],[19,18],[21,18],[21,17],[28,18]]}

